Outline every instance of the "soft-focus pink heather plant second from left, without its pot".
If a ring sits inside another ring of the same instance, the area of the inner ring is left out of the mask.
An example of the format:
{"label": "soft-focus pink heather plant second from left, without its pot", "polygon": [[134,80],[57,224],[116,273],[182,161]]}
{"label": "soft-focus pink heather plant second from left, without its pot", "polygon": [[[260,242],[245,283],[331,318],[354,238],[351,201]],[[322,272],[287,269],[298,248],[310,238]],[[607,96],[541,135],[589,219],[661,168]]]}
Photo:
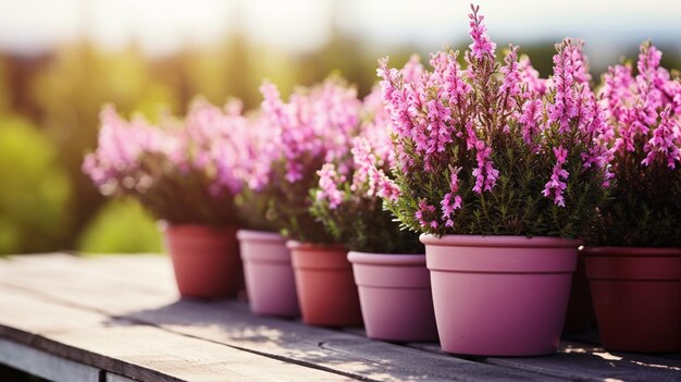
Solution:
{"label": "soft-focus pink heather plant second from left, without its pot", "polygon": [[329,78],[300,88],[287,102],[273,84],[264,83],[260,138],[251,139],[251,165],[239,198],[249,225],[275,229],[300,242],[334,244],[311,213],[310,190],[319,184],[318,170],[334,162],[347,175],[352,165],[351,140],[360,128],[362,102],[355,88]]}

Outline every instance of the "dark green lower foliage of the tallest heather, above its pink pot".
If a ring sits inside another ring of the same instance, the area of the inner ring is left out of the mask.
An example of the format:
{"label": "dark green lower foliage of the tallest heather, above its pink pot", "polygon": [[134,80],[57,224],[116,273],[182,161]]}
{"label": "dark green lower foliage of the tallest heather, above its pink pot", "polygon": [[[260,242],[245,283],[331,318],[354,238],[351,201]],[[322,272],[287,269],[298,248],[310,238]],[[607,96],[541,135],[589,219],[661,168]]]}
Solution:
{"label": "dark green lower foliage of the tallest heather, above its pink pot", "polygon": [[[453,147],[450,160],[444,162],[448,168],[433,172],[411,172],[405,174],[395,170],[397,183],[404,197],[396,202],[388,202],[388,208],[403,222],[403,227],[414,232],[428,232],[435,235],[446,233],[470,235],[525,235],[584,237],[596,224],[596,207],[607,197],[600,187],[603,174],[586,171],[582,167],[580,152],[584,147],[569,149],[566,169],[570,176],[565,193],[566,207],[559,207],[542,195],[544,185],[550,177],[555,157],[553,152],[535,152],[522,140],[520,126],[511,123],[509,132],[497,131],[492,135],[492,160],[499,170],[499,177],[492,192],[476,194],[472,190],[475,176],[472,171],[459,171],[459,193],[462,208],[455,212],[454,226],[439,225],[437,229],[424,229],[416,219],[419,200],[428,200],[439,206],[449,192],[449,176],[456,171],[448,163],[457,163],[463,169],[475,167],[475,158],[465,147]],[[577,134],[577,128],[573,130]],[[547,135],[557,134],[557,127]],[[548,139],[552,139],[550,137]],[[580,141],[570,138],[571,141]],[[578,144],[580,145],[580,144]],[[413,147],[408,148],[413,150]],[[416,157],[412,157],[416,158]],[[422,165],[417,162],[416,167]]]}

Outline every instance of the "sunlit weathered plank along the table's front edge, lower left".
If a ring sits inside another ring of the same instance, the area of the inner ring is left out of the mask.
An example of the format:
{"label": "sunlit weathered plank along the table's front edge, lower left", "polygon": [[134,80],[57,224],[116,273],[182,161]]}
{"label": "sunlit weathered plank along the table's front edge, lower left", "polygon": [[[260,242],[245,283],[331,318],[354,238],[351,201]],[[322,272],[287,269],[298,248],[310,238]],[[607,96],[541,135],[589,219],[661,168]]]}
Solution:
{"label": "sunlit weathered plank along the table's front edge, lower left", "polygon": [[214,342],[44,301],[8,286],[0,285],[0,337],[133,380],[347,380]]}

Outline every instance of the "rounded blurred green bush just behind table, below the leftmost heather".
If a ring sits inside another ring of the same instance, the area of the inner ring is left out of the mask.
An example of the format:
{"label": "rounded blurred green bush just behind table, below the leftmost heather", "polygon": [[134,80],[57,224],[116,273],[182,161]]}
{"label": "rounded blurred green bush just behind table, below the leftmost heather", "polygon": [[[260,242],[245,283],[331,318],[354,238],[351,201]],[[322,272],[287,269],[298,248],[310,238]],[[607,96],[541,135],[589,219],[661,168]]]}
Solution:
{"label": "rounded blurred green bush just behind table, below the leftmost heather", "polygon": [[156,221],[132,199],[104,205],[78,242],[78,250],[92,254],[161,251]]}

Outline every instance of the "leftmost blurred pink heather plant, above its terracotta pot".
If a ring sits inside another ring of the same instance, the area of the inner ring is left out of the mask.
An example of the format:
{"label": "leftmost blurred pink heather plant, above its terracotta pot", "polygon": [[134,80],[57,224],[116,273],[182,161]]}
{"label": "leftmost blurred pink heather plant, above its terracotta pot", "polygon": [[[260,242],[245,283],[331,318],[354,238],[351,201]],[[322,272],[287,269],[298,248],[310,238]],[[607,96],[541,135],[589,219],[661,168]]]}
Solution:
{"label": "leftmost blurred pink heather plant, above its terracotta pot", "polygon": [[171,224],[236,225],[234,196],[246,128],[240,103],[225,110],[197,101],[184,121],[163,127],[141,118],[100,113],[97,149],[83,171],[106,196],[132,197]]}

